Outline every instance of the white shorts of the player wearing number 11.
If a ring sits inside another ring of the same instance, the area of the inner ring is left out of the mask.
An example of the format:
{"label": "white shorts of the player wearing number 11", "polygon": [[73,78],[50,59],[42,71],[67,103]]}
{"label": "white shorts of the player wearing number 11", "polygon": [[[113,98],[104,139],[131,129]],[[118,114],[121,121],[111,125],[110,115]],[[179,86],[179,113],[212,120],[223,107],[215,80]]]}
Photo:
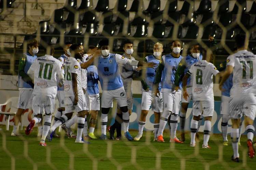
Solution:
{"label": "white shorts of the player wearing number 11", "polygon": [[254,120],[256,113],[256,96],[241,95],[230,97],[229,116],[232,119],[241,119],[243,115]]}

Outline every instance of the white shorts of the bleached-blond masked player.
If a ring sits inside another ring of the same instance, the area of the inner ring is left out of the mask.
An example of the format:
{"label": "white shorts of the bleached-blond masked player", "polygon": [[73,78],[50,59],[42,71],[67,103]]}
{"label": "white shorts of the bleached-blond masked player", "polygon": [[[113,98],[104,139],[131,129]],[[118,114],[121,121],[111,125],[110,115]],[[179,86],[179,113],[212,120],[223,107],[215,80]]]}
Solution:
{"label": "white shorts of the bleached-blond masked player", "polygon": [[162,93],[159,93],[159,97],[156,97],[152,91],[143,91],[141,98],[141,109],[148,111],[152,104],[152,111],[161,113],[163,111],[163,99]]}

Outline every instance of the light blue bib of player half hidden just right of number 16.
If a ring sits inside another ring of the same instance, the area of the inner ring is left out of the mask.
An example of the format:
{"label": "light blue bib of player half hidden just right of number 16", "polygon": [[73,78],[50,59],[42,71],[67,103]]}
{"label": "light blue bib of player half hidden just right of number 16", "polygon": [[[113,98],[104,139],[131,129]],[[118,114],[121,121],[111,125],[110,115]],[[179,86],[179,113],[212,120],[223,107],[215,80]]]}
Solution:
{"label": "light blue bib of player half hidden just right of number 16", "polygon": [[96,66],[87,67],[87,93],[88,95],[97,95],[99,94],[99,85],[98,85],[99,75]]}

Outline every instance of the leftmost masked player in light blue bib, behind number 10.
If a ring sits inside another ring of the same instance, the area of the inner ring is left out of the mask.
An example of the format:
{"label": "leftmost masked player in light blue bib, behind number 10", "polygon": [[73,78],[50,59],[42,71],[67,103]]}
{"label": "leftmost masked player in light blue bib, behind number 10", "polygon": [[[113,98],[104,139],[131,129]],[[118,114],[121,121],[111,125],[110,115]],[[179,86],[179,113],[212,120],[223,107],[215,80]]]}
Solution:
{"label": "leftmost masked player in light blue bib, behind number 10", "polygon": [[11,136],[18,136],[18,124],[22,113],[25,109],[31,109],[33,99],[33,88],[34,84],[32,79],[28,76],[28,69],[37,58],[39,43],[36,39],[28,41],[28,52],[24,53],[19,59],[19,70],[18,70],[18,86],[19,86],[19,101],[18,110],[14,116],[14,126]]}

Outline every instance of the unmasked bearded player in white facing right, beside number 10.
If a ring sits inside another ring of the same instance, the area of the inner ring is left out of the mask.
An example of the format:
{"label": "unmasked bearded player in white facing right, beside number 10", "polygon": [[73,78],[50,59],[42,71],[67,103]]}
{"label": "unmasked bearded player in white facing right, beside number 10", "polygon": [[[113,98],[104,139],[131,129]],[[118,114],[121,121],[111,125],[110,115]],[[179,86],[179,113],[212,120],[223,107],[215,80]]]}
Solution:
{"label": "unmasked bearded player in white facing right, beside number 10", "polygon": [[[62,115],[58,121],[50,129],[50,135],[48,135],[49,141],[52,140],[53,131],[61,124],[69,120],[73,115],[73,110],[75,109],[78,113],[75,118],[72,120],[77,121],[77,136],[75,143],[84,143],[82,138],[82,132],[85,124],[85,116],[88,115],[88,104],[85,99],[84,91],[82,88],[82,78],[81,78],[81,68],[87,68],[94,60],[94,55],[88,62],[80,63],[76,58],[83,57],[83,51],[78,44],[73,44],[70,46],[71,56],[67,58],[64,63],[65,70],[65,82],[64,82],[64,91],[65,91],[65,115]],[[73,57],[74,56],[74,57]]]}

